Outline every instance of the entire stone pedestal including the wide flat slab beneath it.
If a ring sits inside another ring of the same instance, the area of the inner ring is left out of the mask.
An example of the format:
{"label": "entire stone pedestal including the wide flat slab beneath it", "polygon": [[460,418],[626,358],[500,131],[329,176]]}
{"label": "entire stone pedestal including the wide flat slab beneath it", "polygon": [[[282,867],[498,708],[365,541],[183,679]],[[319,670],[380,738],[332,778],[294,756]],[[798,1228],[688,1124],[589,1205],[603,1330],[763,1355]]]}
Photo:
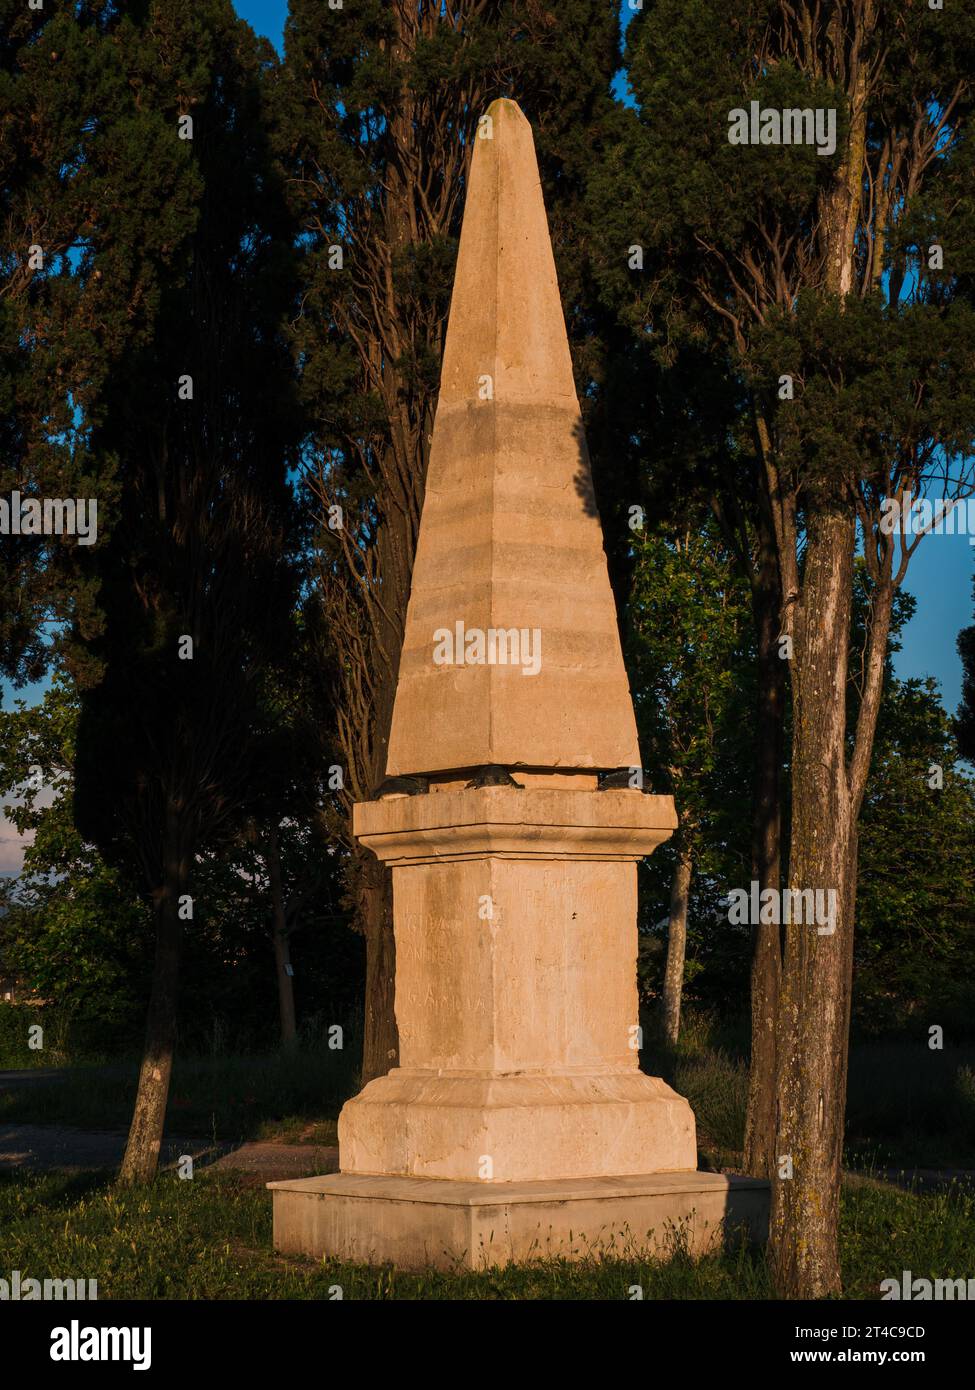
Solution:
{"label": "entire stone pedestal including the wide flat slab beneath it", "polygon": [[638,1069],[636,859],[673,819],[637,791],[356,806],[392,869],[402,1065],[344,1106],[339,1175],[273,1184],[278,1250],[478,1268],[761,1234],[764,1184],[697,1173],[687,1101]]}

